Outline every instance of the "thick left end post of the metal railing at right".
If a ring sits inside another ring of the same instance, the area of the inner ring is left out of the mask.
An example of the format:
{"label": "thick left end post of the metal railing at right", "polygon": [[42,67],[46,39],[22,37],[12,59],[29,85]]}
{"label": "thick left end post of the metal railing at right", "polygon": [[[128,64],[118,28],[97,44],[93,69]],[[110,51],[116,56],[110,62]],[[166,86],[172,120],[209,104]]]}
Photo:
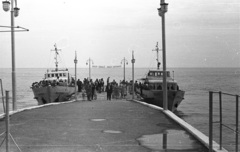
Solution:
{"label": "thick left end post of the metal railing at right", "polygon": [[209,91],[209,152],[212,152],[212,108],[213,107],[213,92]]}

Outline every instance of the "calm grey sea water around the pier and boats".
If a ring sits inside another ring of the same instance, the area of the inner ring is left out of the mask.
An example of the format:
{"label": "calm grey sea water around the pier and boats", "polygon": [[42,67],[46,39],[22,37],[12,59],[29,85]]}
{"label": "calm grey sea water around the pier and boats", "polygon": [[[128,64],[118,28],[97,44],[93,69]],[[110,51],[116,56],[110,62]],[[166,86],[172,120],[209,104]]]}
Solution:
{"label": "calm grey sea water around the pier and boats", "polygon": [[[145,77],[149,69],[135,68],[134,79]],[[178,82],[181,90],[185,91],[185,97],[176,114],[186,122],[208,136],[209,126],[209,91],[222,91],[240,95],[240,68],[169,68],[171,75]],[[74,69],[69,71],[74,75]],[[35,106],[37,101],[33,99],[31,85],[43,79],[46,69],[43,68],[18,68],[16,69],[16,91],[17,108]],[[89,77],[88,68],[78,68],[77,77],[80,80]],[[124,77],[123,68],[92,68],[91,78],[93,80],[103,78],[105,83],[109,77],[110,82],[120,82]],[[9,90],[12,96],[12,75],[11,69],[0,69],[0,79],[3,82],[3,89]],[[132,79],[132,69],[125,69],[125,79]],[[2,96],[2,94],[0,95]],[[0,99],[1,101],[1,99]],[[235,97],[223,96],[223,123],[235,129]],[[11,99],[10,99],[11,102]],[[2,102],[1,102],[2,103]],[[214,95],[214,121],[219,120],[218,95]],[[0,113],[3,113],[0,105]],[[219,124],[214,124],[214,140],[219,143]],[[229,151],[235,149],[235,134],[223,127],[223,147]],[[239,145],[240,147],[240,145]]]}

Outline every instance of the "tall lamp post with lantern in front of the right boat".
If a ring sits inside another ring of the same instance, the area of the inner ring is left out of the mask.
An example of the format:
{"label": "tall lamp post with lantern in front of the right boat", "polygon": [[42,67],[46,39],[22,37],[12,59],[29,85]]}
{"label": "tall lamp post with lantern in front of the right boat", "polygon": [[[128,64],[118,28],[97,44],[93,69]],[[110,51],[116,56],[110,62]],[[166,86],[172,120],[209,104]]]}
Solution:
{"label": "tall lamp post with lantern in front of the right boat", "polygon": [[161,0],[158,15],[162,17],[162,53],[163,53],[163,109],[167,110],[167,80],[166,80],[166,40],[165,40],[165,13],[168,10],[168,4]]}

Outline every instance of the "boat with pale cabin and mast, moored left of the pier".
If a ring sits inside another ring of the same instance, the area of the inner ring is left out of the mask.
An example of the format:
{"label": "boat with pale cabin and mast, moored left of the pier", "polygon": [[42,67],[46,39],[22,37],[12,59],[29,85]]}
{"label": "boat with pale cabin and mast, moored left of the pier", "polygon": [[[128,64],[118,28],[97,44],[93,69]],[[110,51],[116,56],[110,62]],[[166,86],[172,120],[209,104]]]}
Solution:
{"label": "boat with pale cabin and mast, moored left of the pier", "polygon": [[75,93],[74,78],[68,69],[58,68],[59,49],[54,45],[55,69],[47,69],[43,80],[34,82],[31,89],[38,105],[69,101]]}

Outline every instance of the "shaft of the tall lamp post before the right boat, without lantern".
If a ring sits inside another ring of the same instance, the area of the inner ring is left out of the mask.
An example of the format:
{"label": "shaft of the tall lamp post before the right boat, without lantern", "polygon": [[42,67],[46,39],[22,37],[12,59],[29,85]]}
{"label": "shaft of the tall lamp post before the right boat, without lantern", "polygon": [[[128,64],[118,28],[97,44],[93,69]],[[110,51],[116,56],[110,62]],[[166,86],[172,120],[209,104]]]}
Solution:
{"label": "shaft of the tall lamp post before the right boat, without lantern", "polygon": [[[164,0],[161,0],[161,4],[164,4]],[[162,13],[162,48],[163,48],[163,109],[168,109],[167,100],[167,76],[166,76],[166,40],[165,40],[165,12]]]}

